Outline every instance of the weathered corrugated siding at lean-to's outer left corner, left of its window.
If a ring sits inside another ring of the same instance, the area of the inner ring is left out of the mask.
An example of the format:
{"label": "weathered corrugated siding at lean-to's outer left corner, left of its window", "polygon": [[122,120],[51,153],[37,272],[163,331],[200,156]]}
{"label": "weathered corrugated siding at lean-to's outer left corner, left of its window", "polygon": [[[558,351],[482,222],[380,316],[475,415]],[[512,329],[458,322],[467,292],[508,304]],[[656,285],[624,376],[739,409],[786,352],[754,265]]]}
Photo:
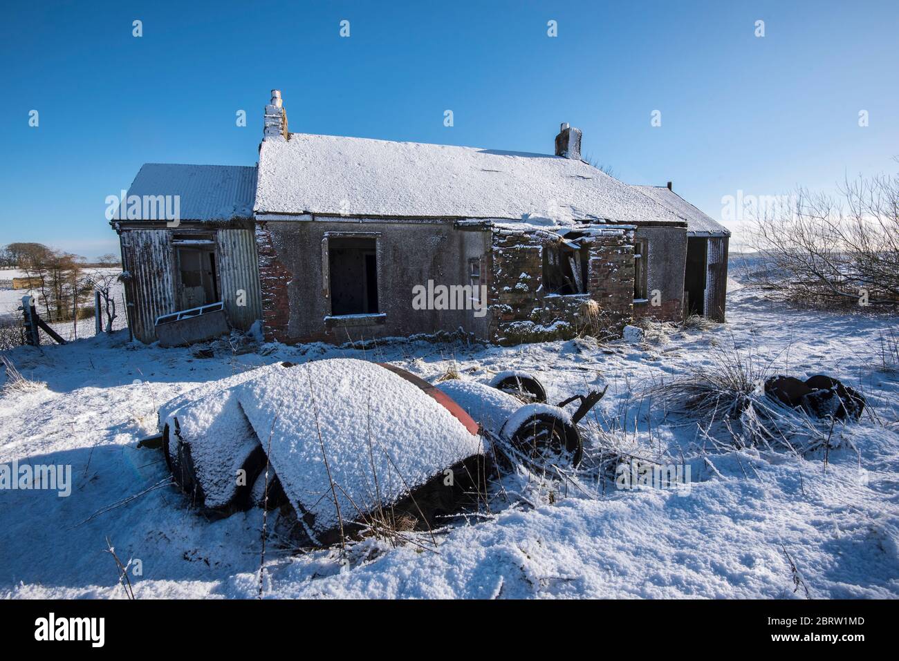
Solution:
{"label": "weathered corrugated siding at lean-to's outer left corner, left of its window", "polygon": [[124,230],[121,255],[131,277],[125,283],[134,337],[155,342],[156,317],[175,312],[171,235],[166,230]]}

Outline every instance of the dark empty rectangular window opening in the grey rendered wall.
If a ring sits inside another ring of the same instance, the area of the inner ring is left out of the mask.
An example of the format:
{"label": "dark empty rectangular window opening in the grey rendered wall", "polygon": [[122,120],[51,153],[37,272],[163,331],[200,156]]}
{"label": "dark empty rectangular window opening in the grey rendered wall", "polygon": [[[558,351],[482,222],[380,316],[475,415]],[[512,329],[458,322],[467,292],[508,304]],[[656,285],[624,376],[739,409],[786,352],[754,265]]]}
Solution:
{"label": "dark empty rectangular window opening in the grey rendered wall", "polygon": [[375,239],[328,239],[331,313],[378,313],[378,258]]}

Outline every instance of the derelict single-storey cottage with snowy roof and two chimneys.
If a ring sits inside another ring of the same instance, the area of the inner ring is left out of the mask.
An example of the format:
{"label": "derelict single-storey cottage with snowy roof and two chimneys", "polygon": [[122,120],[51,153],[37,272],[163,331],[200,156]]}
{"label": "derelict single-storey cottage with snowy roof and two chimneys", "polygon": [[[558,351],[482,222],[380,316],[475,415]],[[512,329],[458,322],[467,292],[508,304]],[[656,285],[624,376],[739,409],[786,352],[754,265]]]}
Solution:
{"label": "derelict single-storey cottage with snowy roof and two chimneys", "polygon": [[[147,163],[120,235],[129,324],[188,343],[261,321],[288,343],[464,331],[513,344],[723,321],[729,232],[671,188],[580,157],[289,133],[265,106],[255,166]],[[147,214],[174,198],[177,217]],[[414,290],[443,300],[414,305]],[[461,293],[461,294],[459,294]]]}

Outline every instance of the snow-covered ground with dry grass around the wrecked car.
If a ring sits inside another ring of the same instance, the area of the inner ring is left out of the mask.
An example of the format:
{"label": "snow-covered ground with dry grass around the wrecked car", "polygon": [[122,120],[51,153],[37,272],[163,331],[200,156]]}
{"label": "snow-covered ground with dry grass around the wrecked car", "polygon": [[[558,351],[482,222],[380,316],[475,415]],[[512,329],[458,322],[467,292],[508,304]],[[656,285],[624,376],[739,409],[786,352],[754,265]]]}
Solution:
{"label": "snow-covered ground with dry grass around the wrecked car", "polygon": [[[732,288],[729,322],[669,341],[597,346],[572,340],[516,348],[396,342],[368,351],[266,345],[260,353],[127,343],[127,335],[7,356],[45,382],[0,394],[0,464],[70,464],[72,492],[0,490],[0,596],[122,598],[107,539],[138,598],[253,597],[261,510],[209,522],[186,506],[155,450],[156,411],[199,383],[280,360],[387,360],[434,381],[455,363],[463,378],[529,370],[550,401],[608,383],[598,421],[625,421],[635,454],[677,458],[689,491],[567,487],[534,480],[491,511],[448,522],[436,548],[376,539],[292,554],[267,544],[263,595],[272,597],[895,597],[899,595],[899,417],[895,373],[880,369],[892,320],[808,313]],[[894,322],[895,323],[895,322]],[[864,392],[871,415],[837,425],[855,446],[801,458],[785,451],[711,450],[696,423],[667,418],[641,395],[708,363],[730,343],[777,357],[779,373],[826,373]],[[264,354],[264,355],[263,355]],[[636,432],[635,432],[636,425]],[[601,438],[594,427],[589,450]],[[619,436],[622,436],[619,433]],[[633,449],[633,448],[632,448]],[[511,487],[510,487],[511,489]],[[128,499],[143,493],[138,498]],[[108,511],[104,508],[115,504]],[[271,530],[271,516],[269,529]],[[791,568],[795,565],[796,570]]]}

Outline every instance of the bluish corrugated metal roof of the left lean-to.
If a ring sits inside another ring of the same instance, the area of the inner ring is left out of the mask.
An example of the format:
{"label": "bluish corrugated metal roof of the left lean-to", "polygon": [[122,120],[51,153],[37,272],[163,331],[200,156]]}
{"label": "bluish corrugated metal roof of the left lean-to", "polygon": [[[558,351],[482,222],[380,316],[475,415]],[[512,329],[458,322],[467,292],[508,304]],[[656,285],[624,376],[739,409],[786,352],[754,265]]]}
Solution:
{"label": "bluish corrugated metal roof of the left lean-to", "polygon": [[252,165],[144,163],[128,195],[176,195],[181,220],[227,221],[253,216],[255,189]]}

